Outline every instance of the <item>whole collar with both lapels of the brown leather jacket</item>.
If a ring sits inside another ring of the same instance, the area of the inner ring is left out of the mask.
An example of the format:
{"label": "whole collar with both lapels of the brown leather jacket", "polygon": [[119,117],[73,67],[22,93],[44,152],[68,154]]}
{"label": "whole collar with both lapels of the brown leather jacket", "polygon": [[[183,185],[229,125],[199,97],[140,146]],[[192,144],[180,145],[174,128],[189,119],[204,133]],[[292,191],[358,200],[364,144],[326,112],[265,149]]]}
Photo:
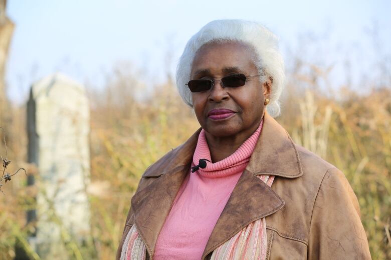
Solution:
{"label": "whole collar with both lapels of the brown leather jacket", "polygon": [[[148,167],[144,178],[160,177],[134,194],[131,200],[134,224],[150,255],[154,253],[157,237],[176,193],[189,172],[200,131],[201,128],[182,145]],[[212,231],[203,258],[250,222],[273,214],[284,206],[284,200],[256,177],[261,174],[286,178],[303,174],[292,139],[268,113],[264,115],[261,135],[250,162]]]}

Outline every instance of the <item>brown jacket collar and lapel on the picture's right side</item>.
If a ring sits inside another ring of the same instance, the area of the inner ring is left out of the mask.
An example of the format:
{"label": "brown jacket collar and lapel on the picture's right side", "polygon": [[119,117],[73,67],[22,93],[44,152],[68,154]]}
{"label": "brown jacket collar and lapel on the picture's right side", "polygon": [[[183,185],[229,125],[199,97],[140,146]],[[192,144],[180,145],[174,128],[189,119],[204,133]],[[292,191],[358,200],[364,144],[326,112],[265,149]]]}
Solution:
{"label": "brown jacket collar and lapel on the picture's right side", "polygon": [[284,200],[256,175],[287,178],[303,174],[295,145],[286,130],[268,113],[250,162],[238,180],[215,228],[203,259],[252,221],[273,214]]}

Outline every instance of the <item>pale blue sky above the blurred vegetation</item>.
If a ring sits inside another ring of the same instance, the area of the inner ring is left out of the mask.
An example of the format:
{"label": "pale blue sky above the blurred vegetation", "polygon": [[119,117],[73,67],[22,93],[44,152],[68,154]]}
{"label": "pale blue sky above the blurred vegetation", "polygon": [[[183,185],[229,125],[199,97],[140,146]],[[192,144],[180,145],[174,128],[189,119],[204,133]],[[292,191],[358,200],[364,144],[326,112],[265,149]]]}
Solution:
{"label": "pale blue sky above the blurred vegetation", "polygon": [[[354,69],[365,70],[367,60],[380,58],[367,33],[373,24],[379,29],[378,52],[391,53],[390,13],[389,0],[9,0],[16,28],[8,95],[25,100],[33,81],[55,71],[99,86],[118,61],[130,61],[144,70],[142,79],[158,82],[166,71],[174,71],[187,39],[221,18],[256,20],[269,27],[280,37],[288,64],[287,59],[306,49],[299,36],[312,35],[319,45],[308,50],[310,60],[329,64],[343,53],[356,60]],[[168,67],[167,52],[173,59]]]}

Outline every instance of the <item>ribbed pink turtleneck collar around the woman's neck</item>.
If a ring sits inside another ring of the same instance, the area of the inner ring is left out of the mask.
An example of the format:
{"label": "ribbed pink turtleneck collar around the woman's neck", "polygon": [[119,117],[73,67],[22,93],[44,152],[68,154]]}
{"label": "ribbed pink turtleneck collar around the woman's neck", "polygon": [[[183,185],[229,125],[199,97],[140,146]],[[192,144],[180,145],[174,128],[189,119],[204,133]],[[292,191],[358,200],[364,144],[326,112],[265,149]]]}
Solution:
{"label": "ribbed pink turtleneck collar around the woman's neck", "polygon": [[[191,174],[198,173],[205,177],[215,178],[242,172],[250,161],[250,156],[255,149],[255,145],[257,144],[259,135],[261,133],[262,124],[263,120],[255,132],[248,139],[246,139],[233,154],[215,163],[207,162],[206,168],[200,168]],[[198,137],[197,147],[195,147],[193,155],[192,166],[197,165],[200,159],[208,159],[212,161],[211,152],[209,150],[204,129],[201,130]]]}

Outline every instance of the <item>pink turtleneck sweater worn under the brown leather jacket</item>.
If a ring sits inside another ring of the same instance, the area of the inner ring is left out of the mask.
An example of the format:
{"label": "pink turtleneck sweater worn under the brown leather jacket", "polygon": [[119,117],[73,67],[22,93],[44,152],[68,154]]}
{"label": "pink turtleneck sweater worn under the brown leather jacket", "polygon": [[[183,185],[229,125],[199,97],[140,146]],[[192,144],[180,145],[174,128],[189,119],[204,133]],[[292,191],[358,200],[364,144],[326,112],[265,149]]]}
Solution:
{"label": "pink turtleneck sweater worn under the brown leather jacket", "polygon": [[[227,158],[187,174],[156,241],[154,259],[201,259],[209,236],[243,170],[249,163],[262,129],[257,130]],[[192,165],[211,159],[204,129]]]}

